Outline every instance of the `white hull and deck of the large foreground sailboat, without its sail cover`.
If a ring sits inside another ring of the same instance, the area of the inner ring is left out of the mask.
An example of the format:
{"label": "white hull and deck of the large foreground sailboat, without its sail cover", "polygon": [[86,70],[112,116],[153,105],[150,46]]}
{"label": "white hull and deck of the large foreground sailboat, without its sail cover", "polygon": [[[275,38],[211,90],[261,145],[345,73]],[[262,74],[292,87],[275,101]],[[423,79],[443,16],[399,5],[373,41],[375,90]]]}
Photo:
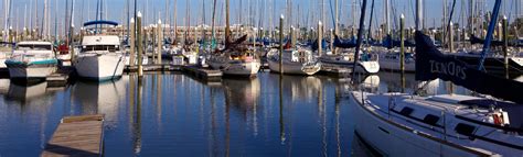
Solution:
{"label": "white hull and deck of the large foreground sailboat, without its sail cover", "polygon": [[[367,144],[384,156],[499,156],[504,154],[508,156],[521,155],[521,150],[514,152],[506,149],[497,144],[488,143],[481,139],[471,141],[468,136],[457,134],[455,126],[463,121],[452,120],[451,113],[460,113],[461,111],[447,111],[450,113],[442,119],[445,123],[438,121],[437,124],[444,125],[447,130],[446,133],[437,132],[439,127],[431,126],[429,124],[410,120],[405,116],[394,114],[393,111],[387,111],[386,108],[388,102],[395,102],[396,99],[388,99],[389,97],[381,98],[377,94],[366,93],[365,104],[362,103],[362,92],[351,92],[351,105],[353,106],[352,112],[355,117],[355,132],[360,135]],[[367,97],[371,96],[371,97]],[[405,96],[406,99],[410,99],[410,96]],[[418,112],[418,108],[413,104],[401,104],[401,100],[391,104],[391,110],[396,111],[401,106],[409,106],[416,109],[409,116],[421,116],[423,113]],[[407,100],[408,101],[408,100]],[[413,100],[414,101],[414,100]],[[421,103],[419,101],[416,101]],[[446,106],[452,104],[441,104],[438,102],[430,102],[434,105]],[[385,108],[385,109],[384,109]],[[437,108],[436,108],[437,109]],[[420,110],[420,109],[419,109]],[[388,112],[388,113],[387,113]],[[439,116],[438,112],[428,112]],[[462,112],[465,116],[477,115],[474,113]],[[427,113],[426,113],[427,114]],[[388,115],[388,116],[387,116]],[[419,119],[419,117],[418,117]],[[421,119],[424,119],[421,116]],[[421,120],[423,121],[423,120]],[[418,124],[419,123],[419,124]],[[494,139],[499,141],[512,141],[517,142],[520,139],[508,139],[511,135],[500,135],[495,132],[497,130],[489,130],[488,127],[481,127],[474,131],[474,134],[481,134],[484,136],[497,136]],[[487,133],[484,130],[489,130]],[[501,131],[500,131],[501,132]],[[459,138],[457,138],[459,137]]]}

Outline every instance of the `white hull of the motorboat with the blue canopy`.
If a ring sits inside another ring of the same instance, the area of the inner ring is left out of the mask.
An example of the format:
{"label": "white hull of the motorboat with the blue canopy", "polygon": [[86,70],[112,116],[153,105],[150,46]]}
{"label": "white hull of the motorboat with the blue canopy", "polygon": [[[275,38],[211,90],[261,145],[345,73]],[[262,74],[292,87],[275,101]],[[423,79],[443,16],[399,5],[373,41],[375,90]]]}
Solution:
{"label": "white hull of the motorboat with the blue canopy", "polygon": [[76,59],[76,72],[82,78],[109,80],[121,77],[126,58],[120,53],[81,54]]}

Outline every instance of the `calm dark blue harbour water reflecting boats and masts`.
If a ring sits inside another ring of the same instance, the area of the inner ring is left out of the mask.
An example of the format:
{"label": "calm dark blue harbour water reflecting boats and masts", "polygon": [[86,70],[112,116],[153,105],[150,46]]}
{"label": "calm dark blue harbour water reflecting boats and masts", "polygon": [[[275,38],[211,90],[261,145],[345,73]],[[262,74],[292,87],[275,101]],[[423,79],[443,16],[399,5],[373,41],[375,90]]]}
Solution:
{"label": "calm dark blue harbour water reflecting boats and masts", "polygon": [[[360,88],[402,89],[397,74]],[[431,82],[428,93],[446,93]],[[136,76],[66,88],[0,79],[0,156],[38,156],[66,115],[105,114],[106,156],[362,156],[353,136],[348,83],[329,77],[260,72],[252,80],[202,82],[181,74]],[[456,88],[453,92],[468,93]],[[280,94],[281,93],[281,94]]]}

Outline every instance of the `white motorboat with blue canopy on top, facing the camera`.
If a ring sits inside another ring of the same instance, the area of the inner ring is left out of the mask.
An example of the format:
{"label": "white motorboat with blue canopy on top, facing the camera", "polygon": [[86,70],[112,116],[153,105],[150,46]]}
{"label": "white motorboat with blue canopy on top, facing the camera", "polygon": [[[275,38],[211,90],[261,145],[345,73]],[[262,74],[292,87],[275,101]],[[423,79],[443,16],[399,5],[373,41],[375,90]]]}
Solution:
{"label": "white motorboat with blue canopy on top, facing the camera", "polygon": [[[118,25],[111,21],[90,21],[89,25]],[[126,64],[125,53],[120,49],[117,35],[87,34],[82,40],[82,49],[75,60],[75,69],[79,77],[92,80],[110,80],[120,78]]]}

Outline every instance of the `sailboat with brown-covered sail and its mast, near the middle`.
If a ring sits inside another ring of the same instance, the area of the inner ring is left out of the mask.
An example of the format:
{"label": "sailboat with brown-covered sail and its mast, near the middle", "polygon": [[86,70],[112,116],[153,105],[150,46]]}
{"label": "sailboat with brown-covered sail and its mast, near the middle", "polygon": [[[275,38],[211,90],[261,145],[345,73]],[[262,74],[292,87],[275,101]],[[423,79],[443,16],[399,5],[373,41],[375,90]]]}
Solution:
{"label": "sailboat with brown-covered sail and its mast, near the middle", "polygon": [[247,40],[247,35],[230,41],[231,29],[228,23],[228,0],[226,5],[226,27],[225,27],[225,48],[216,51],[209,55],[206,59],[209,66],[213,69],[220,69],[224,75],[255,77],[260,68],[260,59],[254,53],[243,47],[242,43]]}

